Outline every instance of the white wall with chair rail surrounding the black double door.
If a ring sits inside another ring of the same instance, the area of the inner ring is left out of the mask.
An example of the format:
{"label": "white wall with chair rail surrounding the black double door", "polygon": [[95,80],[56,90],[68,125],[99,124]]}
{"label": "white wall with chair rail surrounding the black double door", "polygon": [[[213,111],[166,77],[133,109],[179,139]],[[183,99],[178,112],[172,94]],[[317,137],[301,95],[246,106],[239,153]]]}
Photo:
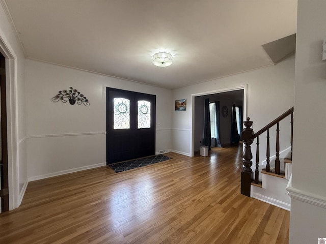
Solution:
{"label": "white wall with chair rail surrounding the black double door", "polygon": [[[171,149],[171,90],[30,59],[25,70],[30,180],[105,163],[105,87],[156,95],[155,151]],[[90,106],[51,102],[69,87]]]}

